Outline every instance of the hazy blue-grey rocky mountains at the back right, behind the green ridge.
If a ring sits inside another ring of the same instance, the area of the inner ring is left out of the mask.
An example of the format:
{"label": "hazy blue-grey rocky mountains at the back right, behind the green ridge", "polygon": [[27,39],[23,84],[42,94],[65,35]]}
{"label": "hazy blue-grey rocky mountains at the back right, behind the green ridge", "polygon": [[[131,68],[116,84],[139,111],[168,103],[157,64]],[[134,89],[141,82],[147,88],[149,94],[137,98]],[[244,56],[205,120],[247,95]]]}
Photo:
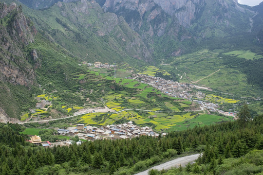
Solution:
{"label": "hazy blue-grey rocky mountains at the back right, behind the green ridge", "polygon": [[256,13],[236,0],[106,0],[103,9],[124,17],[157,59],[200,47],[253,49],[246,43],[256,37]]}

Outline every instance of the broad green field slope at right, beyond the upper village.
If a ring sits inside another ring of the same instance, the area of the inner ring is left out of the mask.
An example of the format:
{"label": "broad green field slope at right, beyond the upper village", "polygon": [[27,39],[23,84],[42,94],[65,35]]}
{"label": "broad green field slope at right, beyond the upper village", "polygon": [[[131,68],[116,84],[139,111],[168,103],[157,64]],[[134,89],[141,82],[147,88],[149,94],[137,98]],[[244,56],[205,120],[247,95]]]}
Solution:
{"label": "broad green field slope at right, beyond the upper village", "polygon": [[[263,95],[260,88],[247,83],[247,75],[241,72],[241,70],[235,69],[235,65],[232,65],[233,68],[230,68],[231,65],[225,64],[227,59],[223,59],[220,55],[222,53],[224,53],[224,50],[202,50],[175,57],[170,66],[162,66],[161,68],[172,70],[175,74],[182,76],[185,72],[189,80],[186,76],[183,76],[182,80],[179,80],[180,82],[192,83],[204,78],[195,84],[224,93],[238,94],[242,97],[250,98],[257,97],[259,94]],[[249,52],[233,52],[231,54],[234,53],[247,54]],[[262,57],[262,55],[257,56]],[[212,74],[213,72],[215,73]]]}

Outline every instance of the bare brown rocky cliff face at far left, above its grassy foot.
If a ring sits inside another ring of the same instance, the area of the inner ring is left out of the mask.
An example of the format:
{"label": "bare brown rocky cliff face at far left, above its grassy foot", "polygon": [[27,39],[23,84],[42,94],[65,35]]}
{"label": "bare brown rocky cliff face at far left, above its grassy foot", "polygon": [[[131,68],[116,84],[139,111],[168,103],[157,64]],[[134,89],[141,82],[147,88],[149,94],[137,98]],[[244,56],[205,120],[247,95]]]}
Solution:
{"label": "bare brown rocky cliff face at far left, above its grassy foot", "polygon": [[34,42],[37,31],[21,7],[15,3],[10,6],[0,3],[0,6],[0,81],[30,87],[35,81],[35,72],[24,47]]}

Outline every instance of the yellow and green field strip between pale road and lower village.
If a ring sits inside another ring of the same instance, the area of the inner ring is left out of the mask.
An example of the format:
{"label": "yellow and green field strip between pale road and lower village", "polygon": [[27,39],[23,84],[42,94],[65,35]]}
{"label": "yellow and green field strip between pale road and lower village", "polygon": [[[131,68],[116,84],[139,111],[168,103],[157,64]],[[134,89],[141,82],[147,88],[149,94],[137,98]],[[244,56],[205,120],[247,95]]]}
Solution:
{"label": "yellow and green field strip between pale road and lower village", "polygon": [[[123,111],[121,113],[105,115],[101,121],[103,123],[97,123],[94,121],[96,116],[99,116],[103,113],[92,113],[86,114],[81,117],[81,122],[84,122],[89,125],[99,124],[99,125],[108,125],[113,124],[117,120],[129,120],[135,122],[140,126],[151,126],[156,131],[171,131],[171,130],[184,130],[187,128],[193,128],[195,125],[204,126],[213,123],[218,123],[222,121],[231,121],[231,118],[217,116],[217,115],[208,115],[208,114],[196,114],[196,113],[186,113],[182,115],[169,115],[167,113],[155,113],[149,112],[146,115],[142,116],[136,111]],[[100,122],[101,122],[100,121]]]}

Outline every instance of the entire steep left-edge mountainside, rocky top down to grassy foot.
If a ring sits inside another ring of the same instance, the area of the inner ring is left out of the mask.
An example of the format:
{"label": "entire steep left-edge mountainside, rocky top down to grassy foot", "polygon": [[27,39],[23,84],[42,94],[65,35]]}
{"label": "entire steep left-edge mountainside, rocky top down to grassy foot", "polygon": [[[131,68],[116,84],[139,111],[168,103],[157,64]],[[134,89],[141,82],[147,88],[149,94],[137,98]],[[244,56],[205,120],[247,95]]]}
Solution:
{"label": "entire steep left-edge mountainside, rocky top down to grassy foot", "polygon": [[[35,26],[15,3],[0,3],[0,116],[16,117],[30,98],[36,84],[34,67],[39,65],[36,51],[24,52],[34,42]],[[32,65],[29,63],[32,62]],[[29,103],[28,103],[29,104]],[[4,112],[5,111],[5,112]],[[7,113],[7,114],[6,114]]]}

